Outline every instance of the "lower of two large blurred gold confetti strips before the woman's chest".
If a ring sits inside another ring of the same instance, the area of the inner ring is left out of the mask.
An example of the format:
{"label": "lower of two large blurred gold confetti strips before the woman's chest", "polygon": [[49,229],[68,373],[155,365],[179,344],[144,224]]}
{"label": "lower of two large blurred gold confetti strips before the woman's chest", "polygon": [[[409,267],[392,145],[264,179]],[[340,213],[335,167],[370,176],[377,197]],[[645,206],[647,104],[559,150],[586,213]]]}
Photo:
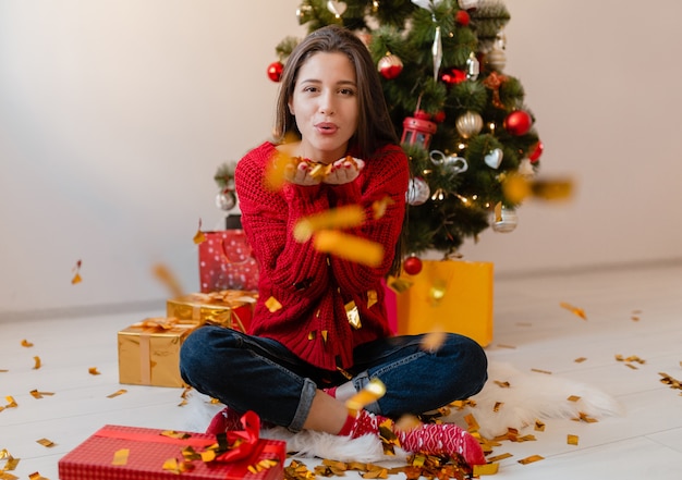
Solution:
{"label": "lower of two large blurred gold confetti strips before the woman's chest", "polygon": [[338,231],[318,232],[313,237],[313,245],[319,251],[368,267],[378,267],[383,260],[383,246],[381,244]]}

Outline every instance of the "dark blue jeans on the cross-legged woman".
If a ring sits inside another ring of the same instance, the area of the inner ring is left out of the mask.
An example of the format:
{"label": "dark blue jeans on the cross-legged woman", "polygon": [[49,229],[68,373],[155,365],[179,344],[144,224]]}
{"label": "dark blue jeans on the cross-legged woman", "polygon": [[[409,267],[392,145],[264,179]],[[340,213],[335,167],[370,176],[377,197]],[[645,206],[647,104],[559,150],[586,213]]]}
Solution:
{"label": "dark blue jeans on the cross-legged woman", "polygon": [[393,336],[360,345],[348,371],[316,368],[277,341],[221,327],[202,327],[183,343],[180,372],[187,384],[264,421],[303,428],[317,389],[352,380],[356,390],[378,378],[386,395],[368,411],[398,418],[467,398],[487,380],[487,358],[473,340],[450,333],[435,352],[423,335]]}

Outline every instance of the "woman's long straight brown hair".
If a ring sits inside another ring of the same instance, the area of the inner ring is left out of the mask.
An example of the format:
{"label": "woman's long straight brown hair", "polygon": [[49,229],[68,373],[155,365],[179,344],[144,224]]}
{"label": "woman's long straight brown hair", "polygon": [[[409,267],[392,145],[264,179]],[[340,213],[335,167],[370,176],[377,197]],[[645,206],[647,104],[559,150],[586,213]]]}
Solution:
{"label": "woman's long straight brown hair", "polygon": [[389,116],[381,82],[369,50],[355,34],[339,26],[328,25],[305,37],[289,56],[280,79],[275,122],[275,138],[289,139],[290,135],[301,138],[294,115],[289,110],[301,66],[315,53],[344,53],[355,67],[357,82],[357,107],[360,111],[357,131],[351,146],[368,158],[386,144],[398,144],[398,136]]}

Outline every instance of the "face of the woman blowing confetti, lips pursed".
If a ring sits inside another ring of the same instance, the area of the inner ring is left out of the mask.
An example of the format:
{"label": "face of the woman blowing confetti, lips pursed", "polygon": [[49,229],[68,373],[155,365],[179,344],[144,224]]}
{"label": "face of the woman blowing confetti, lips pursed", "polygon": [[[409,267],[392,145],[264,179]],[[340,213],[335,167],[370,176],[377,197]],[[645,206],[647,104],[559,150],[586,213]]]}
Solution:
{"label": "face of the woman blowing confetti, lips pursed", "polygon": [[301,132],[299,155],[331,163],[346,153],[357,128],[355,67],[340,52],[318,52],[299,70],[289,109]]}

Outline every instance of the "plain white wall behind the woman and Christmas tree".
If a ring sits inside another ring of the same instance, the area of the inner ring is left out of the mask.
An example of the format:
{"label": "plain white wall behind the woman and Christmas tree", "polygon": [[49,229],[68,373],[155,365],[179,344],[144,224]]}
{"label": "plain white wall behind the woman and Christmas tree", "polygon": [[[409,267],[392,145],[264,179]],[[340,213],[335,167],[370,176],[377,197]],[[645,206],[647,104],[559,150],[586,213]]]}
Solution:
{"label": "plain white wall behind the woman and Christmas tree", "polygon": [[[528,201],[465,258],[498,272],[679,258],[682,3],[508,0],[507,73],[575,198]],[[212,175],[265,139],[299,0],[0,2],[0,320],[198,290]],[[82,259],[83,282],[71,284]]]}

